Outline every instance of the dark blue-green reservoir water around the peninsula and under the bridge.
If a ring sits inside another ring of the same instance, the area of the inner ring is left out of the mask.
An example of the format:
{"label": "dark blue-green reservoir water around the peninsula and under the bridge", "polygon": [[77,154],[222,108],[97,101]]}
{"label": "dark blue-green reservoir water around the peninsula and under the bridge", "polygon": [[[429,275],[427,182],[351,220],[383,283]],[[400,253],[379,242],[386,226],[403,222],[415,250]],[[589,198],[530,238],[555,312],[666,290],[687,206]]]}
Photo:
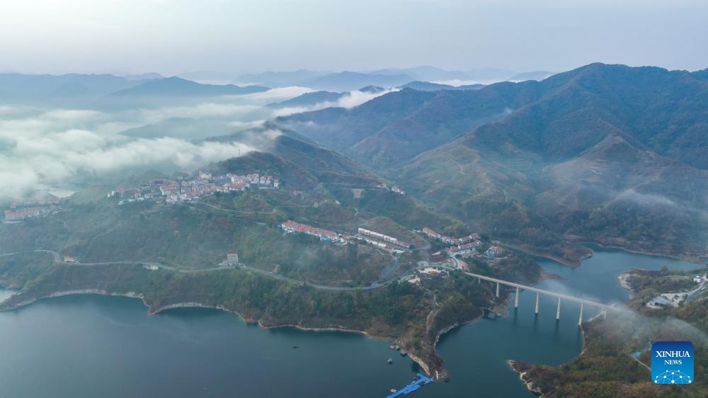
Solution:
{"label": "dark blue-green reservoir water around the peninsula and under the bridge", "polygon": [[[540,259],[566,280],[539,288],[600,302],[629,293],[629,268],[698,268],[668,258],[596,249],[579,268]],[[0,290],[0,299],[11,292]],[[513,300],[513,296],[512,296]],[[508,359],[559,365],[578,356],[578,305],[520,295],[517,311],[483,318],[442,336],[448,383],[411,397],[534,397]],[[585,309],[586,319],[593,311]],[[297,348],[293,348],[297,346]],[[137,299],[77,295],[0,312],[1,397],[386,397],[407,385],[416,364],[386,341],[360,334],[260,329],[214,309],[173,309],[153,317]],[[387,358],[393,358],[392,365]]]}

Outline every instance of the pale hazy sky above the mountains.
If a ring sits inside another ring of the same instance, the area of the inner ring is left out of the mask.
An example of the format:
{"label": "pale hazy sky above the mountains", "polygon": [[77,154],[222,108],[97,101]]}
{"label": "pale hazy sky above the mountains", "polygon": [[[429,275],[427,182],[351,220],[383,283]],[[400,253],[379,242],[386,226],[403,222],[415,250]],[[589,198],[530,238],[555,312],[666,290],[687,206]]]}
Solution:
{"label": "pale hazy sky above the mountains", "polygon": [[705,0],[0,0],[0,71],[708,67]]}

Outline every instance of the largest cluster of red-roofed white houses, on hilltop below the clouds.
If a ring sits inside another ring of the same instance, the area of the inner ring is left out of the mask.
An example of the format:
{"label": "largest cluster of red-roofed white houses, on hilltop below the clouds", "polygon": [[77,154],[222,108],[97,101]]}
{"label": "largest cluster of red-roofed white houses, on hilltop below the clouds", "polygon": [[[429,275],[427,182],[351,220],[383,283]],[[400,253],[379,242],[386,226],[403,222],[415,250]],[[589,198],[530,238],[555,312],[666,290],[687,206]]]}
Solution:
{"label": "largest cluster of red-roofed white houses, on hilltop below the clouds", "polygon": [[196,178],[192,180],[173,181],[166,178],[156,178],[137,188],[115,188],[108,193],[108,197],[122,198],[119,205],[154,198],[164,198],[167,203],[171,204],[217,192],[246,191],[251,186],[279,188],[280,180],[260,173],[251,173],[245,176],[229,173],[225,176],[213,177],[210,173],[199,171]]}

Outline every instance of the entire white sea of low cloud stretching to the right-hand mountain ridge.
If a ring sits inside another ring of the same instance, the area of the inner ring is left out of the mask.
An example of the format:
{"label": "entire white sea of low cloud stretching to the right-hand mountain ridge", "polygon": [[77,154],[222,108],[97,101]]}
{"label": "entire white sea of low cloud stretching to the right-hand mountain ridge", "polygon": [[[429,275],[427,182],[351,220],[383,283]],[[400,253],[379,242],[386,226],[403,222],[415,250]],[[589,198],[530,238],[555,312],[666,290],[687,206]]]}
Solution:
{"label": "entire white sea of low cloud stretching to the right-hand mountain ridge", "polygon": [[[192,105],[115,111],[47,110],[3,104],[0,105],[0,184],[4,189],[0,190],[0,205],[40,191],[81,186],[93,178],[115,178],[127,171],[195,169],[237,157],[263,149],[280,132],[241,134],[238,142],[197,140],[257,127],[277,115],[330,106],[351,108],[390,91],[352,91],[334,103],[286,110],[265,105],[312,89],[285,87],[245,96],[214,97]],[[172,122],[159,124],[164,120]],[[145,125],[155,126],[150,135],[120,134]],[[183,131],[180,137],[170,137],[170,129]]]}

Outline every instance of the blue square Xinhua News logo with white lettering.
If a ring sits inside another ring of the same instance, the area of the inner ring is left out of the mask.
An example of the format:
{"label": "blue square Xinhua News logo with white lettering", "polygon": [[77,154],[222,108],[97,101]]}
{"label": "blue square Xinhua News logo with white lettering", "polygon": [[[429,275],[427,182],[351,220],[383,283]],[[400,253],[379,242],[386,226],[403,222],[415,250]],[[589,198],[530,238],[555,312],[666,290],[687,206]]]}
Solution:
{"label": "blue square Xinhua News logo with white lettering", "polygon": [[657,341],[651,345],[651,380],[655,384],[693,382],[693,344],[690,341]]}

